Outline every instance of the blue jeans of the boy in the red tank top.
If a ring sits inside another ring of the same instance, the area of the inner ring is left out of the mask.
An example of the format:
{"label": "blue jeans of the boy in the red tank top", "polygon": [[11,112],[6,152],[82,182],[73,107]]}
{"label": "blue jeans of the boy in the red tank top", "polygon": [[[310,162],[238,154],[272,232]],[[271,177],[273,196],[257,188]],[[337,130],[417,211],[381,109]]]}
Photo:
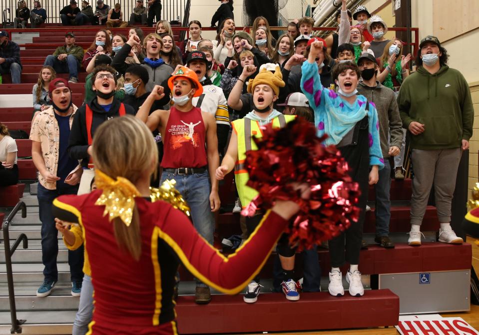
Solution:
{"label": "blue jeans of the boy in the red tank top", "polygon": [[[210,206],[211,186],[208,171],[193,174],[163,172],[160,184],[170,179],[176,181],[176,189],[190,207],[191,219],[196,231],[213,245],[215,219]],[[207,287],[199,280],[196,280],[196,286]]]}

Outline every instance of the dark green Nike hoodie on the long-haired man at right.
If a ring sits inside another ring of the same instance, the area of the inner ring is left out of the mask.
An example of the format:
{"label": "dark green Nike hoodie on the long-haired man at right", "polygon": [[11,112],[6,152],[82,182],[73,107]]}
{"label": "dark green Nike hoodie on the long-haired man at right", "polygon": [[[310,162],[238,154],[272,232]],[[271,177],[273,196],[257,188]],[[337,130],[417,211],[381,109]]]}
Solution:
{"label": "dark green Nike hoodie on the long-haired man at right", "polygon": [[408,76],[398,95],[403,127],[412,121],[424,124],[424,132],[411,134],[413,149],[434,150],[461,146],[473,135],[474,108],[471,91],[458,70],[443,65],[431,74],[424,67]]}

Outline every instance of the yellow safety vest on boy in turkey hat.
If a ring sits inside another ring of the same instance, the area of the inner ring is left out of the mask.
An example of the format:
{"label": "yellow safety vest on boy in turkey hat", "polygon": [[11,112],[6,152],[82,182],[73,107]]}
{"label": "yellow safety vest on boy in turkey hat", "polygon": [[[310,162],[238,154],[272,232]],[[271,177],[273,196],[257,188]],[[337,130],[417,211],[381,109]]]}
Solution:
{"label": "yellow safety vest on boy in turkey hat", "polygon": [[[286,123],[294,120],[296,115],[278,115],[272,121],[274,128],[282,128]],[[258,121],[249,118],[240,118],[232,122],[233,129],[238,137],[238,160],[235,165],[235,182],[238,195],[241,200],[241,207],[245,208],[258,192],[247,186],[249,174],[245,168],[246,151],[257,150],[258,147],[253,140],[253,136],[257,138],[263,137],[263,132]]]}

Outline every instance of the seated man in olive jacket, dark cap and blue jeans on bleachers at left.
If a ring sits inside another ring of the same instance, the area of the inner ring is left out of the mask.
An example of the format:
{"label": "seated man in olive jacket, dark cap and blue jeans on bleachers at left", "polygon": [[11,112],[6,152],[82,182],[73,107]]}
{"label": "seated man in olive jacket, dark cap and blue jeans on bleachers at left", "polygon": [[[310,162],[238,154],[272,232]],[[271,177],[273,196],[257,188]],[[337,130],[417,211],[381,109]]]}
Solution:
{"label": "seated man in olive jacket, dark cap and blue jeans on bleachers at left", "polygon": [[65,45],[58,46],[46,57],[43,65],[50,65],[56,73],[68,73],[68,82],[78,82],[78,70],[80,61],[83,59],[83,48],[75,45],[75,34],[67,32],[65,35]]}

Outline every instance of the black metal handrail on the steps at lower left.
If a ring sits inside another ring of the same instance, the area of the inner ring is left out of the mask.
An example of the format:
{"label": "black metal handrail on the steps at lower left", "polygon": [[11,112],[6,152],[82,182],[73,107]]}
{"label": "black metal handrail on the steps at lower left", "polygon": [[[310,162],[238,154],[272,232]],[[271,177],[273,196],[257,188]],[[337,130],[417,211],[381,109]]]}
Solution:
{"label": "black metal handrail on the steps at lower left", "polygon": [[26,217],[26,205],[23,201],[19,201],[13,209],[10,211],[8,216],[3,220],[2,229],[3,229],[3,242],[5,246],[5,267],[6,267],[6,278],[8,281],[8,299],[10,300],[10,317],[11,317],[11,329],[10,333],[21,333],[20,325],[25,323],[26,320],[18,320],[16,318],[16,306],[15,306],[15,291],[13,288],[13,270],[11,268],[11,255],[15,252],[16,248],[23,241],[23,248],[28,248],[28,238],[24,233],[21,233],[13,242],[13,245],[10,248],[10,235],[8,232],[8,227],[10,226],[11,220],[21,209],[21,217]]}

